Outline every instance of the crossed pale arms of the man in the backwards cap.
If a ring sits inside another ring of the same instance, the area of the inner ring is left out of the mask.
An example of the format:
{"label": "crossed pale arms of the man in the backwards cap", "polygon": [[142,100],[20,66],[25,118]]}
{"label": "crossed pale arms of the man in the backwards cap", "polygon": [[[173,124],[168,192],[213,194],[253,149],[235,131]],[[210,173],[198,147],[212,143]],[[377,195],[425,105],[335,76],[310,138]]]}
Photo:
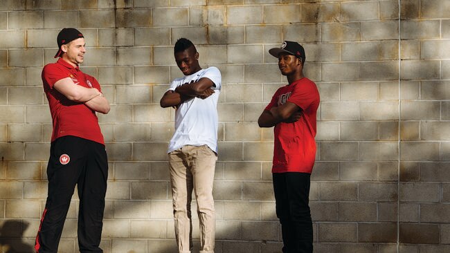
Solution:
{"label": "crossed pale arms of the man in the backwards cap", "polygon": [[68,100],[84,103],[89,109],[99,113],[109,113],[109,102],[97,88],[76,85],[70,77],[58,80],[53,87]]}

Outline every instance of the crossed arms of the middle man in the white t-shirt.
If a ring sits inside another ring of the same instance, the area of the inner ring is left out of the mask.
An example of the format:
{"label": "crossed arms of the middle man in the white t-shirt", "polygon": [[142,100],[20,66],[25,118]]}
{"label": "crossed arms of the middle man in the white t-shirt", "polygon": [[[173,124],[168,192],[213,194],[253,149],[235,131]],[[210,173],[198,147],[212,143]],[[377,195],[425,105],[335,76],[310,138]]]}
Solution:
{"label": "crossed arms of the middle man in the white t-shirt", "polygon": [[200,78],[197,82],[190,82],[178,86],[175,91],[167,91],[164,93],[159,104],[161,107],[177,107],[182,102],[192,98],[199,97],[205,99],[214,93],[211,88],[215,84],[207,77]]}

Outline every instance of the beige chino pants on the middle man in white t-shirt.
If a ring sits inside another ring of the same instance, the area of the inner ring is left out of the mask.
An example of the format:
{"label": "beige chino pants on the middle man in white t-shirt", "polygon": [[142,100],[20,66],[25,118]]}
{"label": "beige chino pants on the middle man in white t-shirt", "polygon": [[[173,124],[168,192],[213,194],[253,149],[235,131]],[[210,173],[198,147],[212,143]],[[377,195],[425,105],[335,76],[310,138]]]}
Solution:
{"label": "beige chino pants on the middle man in white t-shirt", "polygon": [[178,250],[192,250],[192,189],[197,199],[200,223],[200,253],[213,253],[215,210],[213,181],[216,154],[207,146],[186,145],[169,153],[170,182],[174,209],[175,238]]}

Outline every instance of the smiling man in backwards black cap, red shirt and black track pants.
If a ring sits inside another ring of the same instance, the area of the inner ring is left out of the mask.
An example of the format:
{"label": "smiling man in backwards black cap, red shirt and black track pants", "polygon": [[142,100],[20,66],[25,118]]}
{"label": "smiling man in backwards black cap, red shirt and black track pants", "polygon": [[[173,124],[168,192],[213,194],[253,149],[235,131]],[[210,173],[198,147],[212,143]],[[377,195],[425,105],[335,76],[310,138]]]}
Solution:
{"label": "smiling man in backwards black cap, red shirt and black track pants", "polygon": [[98,246],[108,162],[96,112],[108,113],[109,102],[97,80],[78,68],[86,53],[82,33],[75,28],[64,28],[57,36],[57,44],[55,58],[60,58],[44,66],[42,71],[53,133],[47,167],[48,196],[35,250],[57,252],[73,190],[78,185],[80,252],[102,252]]}

